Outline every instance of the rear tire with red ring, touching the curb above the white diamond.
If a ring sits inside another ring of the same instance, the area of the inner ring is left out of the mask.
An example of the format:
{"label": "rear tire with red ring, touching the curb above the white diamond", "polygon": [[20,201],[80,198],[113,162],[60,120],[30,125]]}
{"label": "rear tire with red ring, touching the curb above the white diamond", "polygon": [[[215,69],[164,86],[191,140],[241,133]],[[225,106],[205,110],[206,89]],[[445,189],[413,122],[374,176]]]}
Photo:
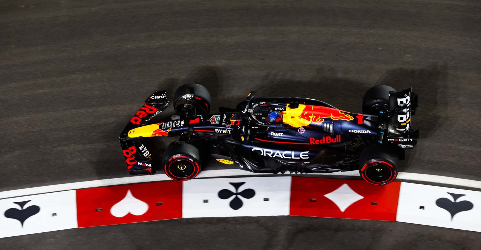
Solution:
{"label": "rear tire with red ring, touching the curb above the white diamond", "polygon": [[381,144],[367,146],[359,158],[359,174],[373,185],[389,184],[398,175],[399,156],[395,150]]}

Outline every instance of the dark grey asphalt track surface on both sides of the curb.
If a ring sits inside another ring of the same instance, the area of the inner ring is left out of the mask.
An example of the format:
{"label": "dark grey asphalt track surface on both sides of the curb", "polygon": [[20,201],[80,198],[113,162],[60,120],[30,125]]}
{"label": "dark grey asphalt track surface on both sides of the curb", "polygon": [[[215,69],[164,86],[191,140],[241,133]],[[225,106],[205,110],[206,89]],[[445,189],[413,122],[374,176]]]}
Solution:
{"label": "dark grey asphalt track surface on both sides of the curb", "polygon": [[[255,90],[353,112],[373,85],[412,86],[421,138],[401,171],[481,180],[480,52],[478,0],[1,1],[0,190],[125,177],[117,138],[128,119],[150,93],[189,82],[210,90],[213,107],[234,107]],[[302,217],[179,219],[0,239],[5,249],[480,245],[475,232]]]}

